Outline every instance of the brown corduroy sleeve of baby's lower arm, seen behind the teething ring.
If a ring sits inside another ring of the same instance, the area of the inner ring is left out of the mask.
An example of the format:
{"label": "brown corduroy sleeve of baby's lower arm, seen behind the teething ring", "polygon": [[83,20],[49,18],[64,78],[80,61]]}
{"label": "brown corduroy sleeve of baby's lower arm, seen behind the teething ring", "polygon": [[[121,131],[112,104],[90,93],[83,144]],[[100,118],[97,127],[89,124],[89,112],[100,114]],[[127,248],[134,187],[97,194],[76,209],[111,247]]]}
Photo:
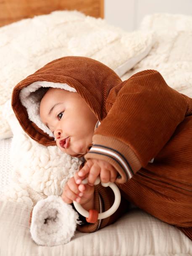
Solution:
{"label": "brown corduroy sleeve of baby's lower arm, seen behind the teething ring", "polygon": [[[109,216],[105,219],[100,219],[95,223],[87,223],[83,225],[77,225],[77,230],[80,232],[90,233],[95,232],[97,230],[102,229],[103,227],[106,227],[113,222],[115,222],[117,219],[119,219],[123,214],[125,214],[129,208],[131,203],[126,201],[126,199],[123,197],[123,194],[121,193],[121,203],[114,214]],[[111,190],[110,187],[103,187],[100,184],[95,186],[95,209],[101,213],[104,211],[107,211],[114,203],[114,193]]]}

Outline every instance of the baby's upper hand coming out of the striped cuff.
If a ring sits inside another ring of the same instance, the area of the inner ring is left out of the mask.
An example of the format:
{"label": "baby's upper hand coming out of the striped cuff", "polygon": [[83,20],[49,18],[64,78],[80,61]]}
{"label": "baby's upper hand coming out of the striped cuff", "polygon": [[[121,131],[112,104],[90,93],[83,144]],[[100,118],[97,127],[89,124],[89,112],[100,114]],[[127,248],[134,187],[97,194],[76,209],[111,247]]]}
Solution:
{"label": "baby's upper hand coming out of the striped cuff", "polygon": [[79,179],[76,180],[76,183],[80,184],[86,178],[86,174],[89,174],[88,184],[94,185],[98,176],[100,176],[101,182],[114,182],[118,172],[111,164],[104,160],[89,159],[78,172]]}

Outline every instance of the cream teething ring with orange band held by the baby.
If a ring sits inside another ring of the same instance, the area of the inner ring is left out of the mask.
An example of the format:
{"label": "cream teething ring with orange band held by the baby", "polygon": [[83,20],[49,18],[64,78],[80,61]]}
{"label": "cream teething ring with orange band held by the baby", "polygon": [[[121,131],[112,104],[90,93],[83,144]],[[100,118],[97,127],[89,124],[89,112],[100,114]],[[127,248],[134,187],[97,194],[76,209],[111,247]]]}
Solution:
{"label": "cream teething ring with orange band held by the baby", "polygon": [[[84,179],[82,181],[82,184],[87,184],[88,183],[88,180],[87,179]],[[100,178],[97,177],[94,185],[97,185],[100,183]],[[80,203],[77,203],[76,201],[73,201],[74,203],[74,207],[76,208],[76,210],[84,217],[86,217],[86,220],[87,222],[90,222],[90,223],[95,223],[97,221],[97,219],[105,219],[109,216],[111,216],[119,207],[120,205],[120,202],[121,202],[121,194],[120,194],[120,191],[117,187],[117,185],[113,182],[108,182],[108,183],[103,183],[101,182],[101,185],[103,187],[110,187],[112,190],[113,190],[113,193],[115,195],[115,200],[114,200],[114,203],[113,205],[111,206],[111,208],[109,208],[107,211],[104,211],[102,213],[99,213],[97,212],[97,210],[89,210],[89,211],[86,211],[81,205]]]}

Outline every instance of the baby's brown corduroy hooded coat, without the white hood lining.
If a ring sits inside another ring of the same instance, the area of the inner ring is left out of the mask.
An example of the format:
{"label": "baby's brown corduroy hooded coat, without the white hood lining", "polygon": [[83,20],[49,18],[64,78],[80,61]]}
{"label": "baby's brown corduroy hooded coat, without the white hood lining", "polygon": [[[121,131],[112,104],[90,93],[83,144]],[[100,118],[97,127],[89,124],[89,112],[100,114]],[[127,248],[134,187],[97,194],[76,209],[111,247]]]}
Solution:
{"label": "baby's brown corduroy hooded coat, without the white hood lining", "polygon": [[[84,156],[103,159],[119,174],[121,193],[128,201],[169,224],[187,229],[192,239],[192,99],[169,87],[154,70],[122,82],[108,67],[89,58],[65,57],[48,63],[13,90],[12,106],[23,129],[43,145],[55,144],[29,121],[19,91],[36,81],[67,83],[87,102],[101,122],[93,145]],[[153,163],[149,161],[154,159]],[[95,208],[113,203],[111,192],[95,190]],[[102,228],[127,209],[102,220]],[[80,228],[81,229],[81,228]],[[82,232],[93,232],[98,223]]]}

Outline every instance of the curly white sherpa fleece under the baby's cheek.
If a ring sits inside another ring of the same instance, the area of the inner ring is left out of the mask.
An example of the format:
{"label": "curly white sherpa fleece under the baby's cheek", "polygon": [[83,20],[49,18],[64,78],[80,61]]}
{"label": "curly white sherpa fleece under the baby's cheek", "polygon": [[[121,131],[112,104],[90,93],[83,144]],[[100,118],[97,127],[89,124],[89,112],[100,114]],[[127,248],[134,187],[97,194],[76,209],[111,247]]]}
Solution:
{"label": "curly white sherpa fleece under the baby's cheek", "polygon": [[[47,196],[61,195],[63,186],[79,169],[82,159],[63,153],[56,145],[45,147],[32,140],[18,123],[11,102],[7,102],[5,110],[13,132],[11,145],[8,145],[10,158],[6,159],[11,164],[11,184],[2,187],[1,199],[34,206]],[[7,169],[8,163],[3,171]]]}

